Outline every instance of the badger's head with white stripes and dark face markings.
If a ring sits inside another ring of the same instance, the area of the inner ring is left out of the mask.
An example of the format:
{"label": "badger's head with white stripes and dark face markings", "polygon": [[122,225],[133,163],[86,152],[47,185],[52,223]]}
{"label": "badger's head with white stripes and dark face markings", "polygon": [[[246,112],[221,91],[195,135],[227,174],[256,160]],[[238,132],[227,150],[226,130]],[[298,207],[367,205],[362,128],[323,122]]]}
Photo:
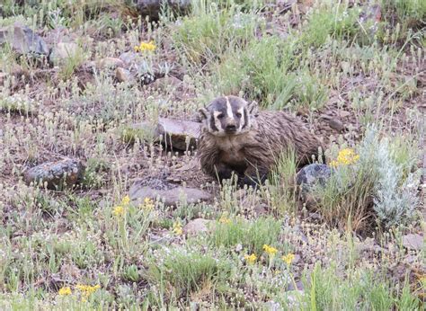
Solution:
{"label": "badger's head with white stripes and dark face markings", "polygon": [[245,102],[236,96],[218,97],[200,109],[205,129],[215,136],[240,135],[255,124],[257,102]]}

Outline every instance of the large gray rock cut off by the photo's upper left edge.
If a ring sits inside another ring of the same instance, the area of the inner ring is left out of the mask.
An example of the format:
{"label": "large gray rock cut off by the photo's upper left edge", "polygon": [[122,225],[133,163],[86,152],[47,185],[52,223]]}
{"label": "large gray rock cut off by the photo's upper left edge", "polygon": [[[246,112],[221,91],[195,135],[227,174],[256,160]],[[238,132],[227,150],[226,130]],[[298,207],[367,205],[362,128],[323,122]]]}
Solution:
{"label": "large gray rock cut off by the photo's upper left edge", "polygon": [[0,45],[9,43],[19,54],[49,55],[49,47],[39,35],[18,22],[0,28]]}

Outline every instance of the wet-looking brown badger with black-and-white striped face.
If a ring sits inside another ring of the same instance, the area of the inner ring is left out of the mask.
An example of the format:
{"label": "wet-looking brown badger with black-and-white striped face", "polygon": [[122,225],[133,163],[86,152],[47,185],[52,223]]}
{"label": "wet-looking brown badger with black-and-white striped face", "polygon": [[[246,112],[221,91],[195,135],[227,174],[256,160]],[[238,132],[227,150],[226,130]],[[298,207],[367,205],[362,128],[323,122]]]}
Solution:
{"label": "wet-looking brown badger with black-and-white striped face", "polygon": [[201,169],[220,182],[235,174],[238,184],[256,186],[288,148],[302,167],[321,147],[301,120],[284,111],[259,111],[257,102],[241,97],[218,97],[199,112]]}

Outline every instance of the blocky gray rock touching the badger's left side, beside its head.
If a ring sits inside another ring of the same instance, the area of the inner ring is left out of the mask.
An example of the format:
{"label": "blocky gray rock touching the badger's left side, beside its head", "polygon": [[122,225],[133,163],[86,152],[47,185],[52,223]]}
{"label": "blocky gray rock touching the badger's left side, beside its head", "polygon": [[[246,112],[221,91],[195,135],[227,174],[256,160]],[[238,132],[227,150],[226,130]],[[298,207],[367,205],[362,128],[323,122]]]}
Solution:
{"label": "blocky gray rock touching the badger's left side, beside its head", "polygon": [[156,136],[163,136],[166,147],[186,150],[196,147],[200,137],[201,123],[190,120],[172,120],[160,118],[156,128]]}

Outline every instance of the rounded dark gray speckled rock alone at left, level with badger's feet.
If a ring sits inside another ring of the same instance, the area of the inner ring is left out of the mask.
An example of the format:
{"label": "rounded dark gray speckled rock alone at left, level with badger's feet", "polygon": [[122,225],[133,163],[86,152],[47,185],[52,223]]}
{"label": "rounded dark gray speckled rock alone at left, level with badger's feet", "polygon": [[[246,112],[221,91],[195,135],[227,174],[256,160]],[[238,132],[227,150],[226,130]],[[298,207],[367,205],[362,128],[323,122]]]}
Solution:
{"label": "rounded dark gray speckled rock alone at left, level with badger's feet", "polygon": [[28,184],[47,183],[48,189],[61,190],[71,187],[83,177],[84,165],[77,159],[65,159],[31,167],[23,173]]}

